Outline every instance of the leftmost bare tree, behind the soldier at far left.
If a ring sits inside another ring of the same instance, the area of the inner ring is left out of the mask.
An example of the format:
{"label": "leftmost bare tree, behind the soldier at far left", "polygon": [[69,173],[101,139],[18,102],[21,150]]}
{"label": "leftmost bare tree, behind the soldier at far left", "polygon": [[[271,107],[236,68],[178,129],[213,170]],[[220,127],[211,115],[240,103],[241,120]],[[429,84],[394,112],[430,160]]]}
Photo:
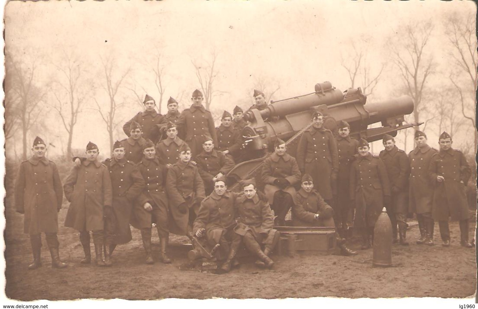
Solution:
{"label": "leftmost bare tree, behind the soldier at far left", "polygon": [[[15,59],[15,55],[19,55],[20,59]],[[28,57],[24,54],[14,53],[12,50],[5,50],[5,101],[7,107],[15,106],[15,114],[22,129],[22,159],[27,158],[27,134],[32,128],[32,125],[37,121],[42,114],[43,108],[40,102],[43,101],[46,93],[43,88],[34,84],[35,77],[37,77],[37,61],[38,58],[28,61]],[[27,63],[28,61],[28,63]],[[7,115],[7,117],[10,117]],[[13,119],[9,119],[9,134],[13,133],[11,130]]]}

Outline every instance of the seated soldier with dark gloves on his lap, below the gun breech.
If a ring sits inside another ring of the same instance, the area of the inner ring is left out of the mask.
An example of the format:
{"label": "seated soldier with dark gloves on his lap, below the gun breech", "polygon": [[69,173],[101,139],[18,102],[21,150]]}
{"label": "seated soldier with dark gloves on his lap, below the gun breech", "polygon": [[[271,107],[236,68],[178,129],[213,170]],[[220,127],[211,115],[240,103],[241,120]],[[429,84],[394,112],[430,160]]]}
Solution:
{"label": "seated soldier with dark gloves on his lap, below the gun breech", "polygon": [[276,139],[274,153],[264,160],[262,181],[264,193],[272,205],[275,225],[285,225],[285,215],[294,204],[294,185],[300,181],[300,170],[294,157],[286,153],[287,147],[282,139]]}

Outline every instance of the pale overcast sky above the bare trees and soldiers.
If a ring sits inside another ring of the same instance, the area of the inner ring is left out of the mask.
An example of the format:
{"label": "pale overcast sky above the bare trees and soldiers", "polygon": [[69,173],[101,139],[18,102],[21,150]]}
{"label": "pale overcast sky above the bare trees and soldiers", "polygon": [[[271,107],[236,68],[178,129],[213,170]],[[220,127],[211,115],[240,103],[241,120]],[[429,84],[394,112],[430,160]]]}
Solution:
{"label": "pale overcast sky above the bare trees and soldiers", "polygon": [[[400,83],[384,45],[402,24],[413,20],[435,21],[429,52],[439,72],[429,85],[438,85],[448,76],[449,61],[440,19],[445,12],[470,10],[475,10],[472,1],[12,1],[5,8],[5,37],[7,46],[28,56],[43,55],[37,83],[45,87],[57,74],[53,64],[61,65],[63,50],[81,55],[95,84],[95,89],[88,86],[84,91],[100,102],[106,102],[100,57],[116,59],[117,76],[131,67],[125,85],[136,81],[141,96],[143,87],[157,98],[150,65],[155,50],[160,50],[166,65],[164,99],[183,92],[181,103],[189,106],[190,94],[199,87],[191,60],[204,64],[215,51],[215,89],[221,93],[211,110],[222,113],[236,104],[247,108],[258,78],[268,80],[270,87],[280,85],[274,99],[313,92],[323,81],[346,90],[350,81],[341,63],[352,53],[352,42],[369,46],[372,70],[388,63],[369,101],[389,98]],[[120,95],[129,106],[118,119],[126,121],[140,106],[128,89],[121,89]],[[90,99],[91,106],[93,102]],[[50,112],[42,121],[56,133],[45,138],[65,147],[58,117],[50,107],[45,109]],[[30,139],[36,133],[30,132]],[[120,132],[115,136],[123,138]],[[79,116],[73,147],[83,149],[88,140],[109,148],[105,125],[92,109]],[[50,149],[51,154],[59,148]]]}

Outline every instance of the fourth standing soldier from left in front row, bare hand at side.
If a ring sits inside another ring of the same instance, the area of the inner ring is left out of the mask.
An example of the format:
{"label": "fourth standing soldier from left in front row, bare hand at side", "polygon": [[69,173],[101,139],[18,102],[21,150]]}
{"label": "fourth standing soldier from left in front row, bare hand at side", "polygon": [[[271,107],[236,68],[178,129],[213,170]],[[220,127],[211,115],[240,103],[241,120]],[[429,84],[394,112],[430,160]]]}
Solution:
{"label": "fourth standing soldier from left in front row, bare hand at side", "polygon": [[152,141],[146,141],[143,145],[143,153],[144,157],[136,167],[146,181],[146,186],[133,208],[131,225],[141,231],[141,239],[146,251],[146,264],[153,264],[151,226],[152,222],[156,223],[161,248],[160,260],[167,264],[171,263],[166,255],[169,238],[169,208],[164,184],[167,169],[155,156],[156,150]]}

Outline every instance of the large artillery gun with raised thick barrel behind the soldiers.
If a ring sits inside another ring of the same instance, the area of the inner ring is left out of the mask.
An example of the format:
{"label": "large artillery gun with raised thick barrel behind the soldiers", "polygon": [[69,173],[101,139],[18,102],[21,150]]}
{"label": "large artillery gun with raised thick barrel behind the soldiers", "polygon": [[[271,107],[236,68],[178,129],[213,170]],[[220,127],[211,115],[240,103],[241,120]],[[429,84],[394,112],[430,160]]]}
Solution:
{"label": "large artillery gun with raised thick barrel behind the soldiers", "polygon": [[[345,120],[350,125],[350,136],[366,139],[369,142],[379,140],[387,133],[396,136],[399,130],[418,126],[421,123],[404,124],[404,115],[413,112],[413,100],[410,96],[368,103],[367,96],[360,88],[348,89],[345,93],[332,86],[330,82],[315,85],[315,92],[283,100],[271,101],[263,109],[252,109],[244,113],[249,125],[242,130],[245,140],[245,153],[273,151],[277,138],[286,142],[287,152],[295,156],[297,143],[302,133],[312,125],[314,111],[324,115],[324,127],[337,131],[337,123]],[[264,121],[278,116],[279,120]],[[380,128],[367,128],[374,123]],[[264,153],[262,152],[262,153]],[[258,176],[261,164],[268,154],[261,158],[239,163],[228,173],[237,181]],[[258,177],[260,178],[260,177]]]}

